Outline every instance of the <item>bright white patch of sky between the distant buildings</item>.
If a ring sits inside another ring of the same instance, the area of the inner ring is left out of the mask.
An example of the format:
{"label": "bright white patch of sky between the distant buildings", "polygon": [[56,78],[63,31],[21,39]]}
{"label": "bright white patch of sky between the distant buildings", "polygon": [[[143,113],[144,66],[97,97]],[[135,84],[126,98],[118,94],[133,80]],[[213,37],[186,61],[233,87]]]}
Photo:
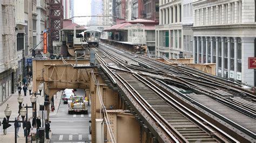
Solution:
{"label": "bright white patch of sky between the distant buildings", "polygon": [[[93,0],[73,0],[74,1],[74,13],[75,16],[90,16],[91,15],[91,1]],[[90,21],[90,18],[75,18],[75,23],[85,25]]]}

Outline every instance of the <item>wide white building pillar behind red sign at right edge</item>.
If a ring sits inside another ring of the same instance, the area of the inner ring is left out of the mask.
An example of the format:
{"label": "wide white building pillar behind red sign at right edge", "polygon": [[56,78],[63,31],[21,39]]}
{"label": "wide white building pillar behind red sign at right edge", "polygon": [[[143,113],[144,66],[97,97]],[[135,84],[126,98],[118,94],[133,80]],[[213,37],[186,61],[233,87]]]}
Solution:
{"label": "wide white building pillar behind red sign at right edge", "polygon": [[254,39],[241,38],[242,40],[242,82],[254,85],[254,69],[248,69],[248,58],[254,57]]}

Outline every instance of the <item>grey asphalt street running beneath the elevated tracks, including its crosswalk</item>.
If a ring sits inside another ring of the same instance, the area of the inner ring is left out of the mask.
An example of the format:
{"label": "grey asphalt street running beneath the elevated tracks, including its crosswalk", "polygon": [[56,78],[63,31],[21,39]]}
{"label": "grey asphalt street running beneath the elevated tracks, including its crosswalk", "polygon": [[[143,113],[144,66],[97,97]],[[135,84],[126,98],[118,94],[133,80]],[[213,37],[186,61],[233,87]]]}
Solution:
{"label": "grey asphalt street running beneath the elevated tracks, including its crosswalk", "polygon": [[[77,95],[84,95],[84,90],[77,89]],[[55,116],[50,116],[52,137],[51,142],[90,142],[89,120],[91,110],[89,106],[88,115],[68,114],[68,104],[60,102],[59,110]]]}

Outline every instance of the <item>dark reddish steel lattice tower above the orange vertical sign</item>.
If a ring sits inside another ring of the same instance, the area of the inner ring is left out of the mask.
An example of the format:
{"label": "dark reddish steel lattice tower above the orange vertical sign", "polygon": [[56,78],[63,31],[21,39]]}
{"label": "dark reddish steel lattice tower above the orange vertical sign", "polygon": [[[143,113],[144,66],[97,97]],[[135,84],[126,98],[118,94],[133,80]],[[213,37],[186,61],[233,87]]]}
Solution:
{"label": "dark reddish steel lattice tower above the orange vertical sign", "polygon": [[59,31],[63,28],[62,0],[45,0],[48,16],[49,53],[53,53],[53,41],[59,41]]}

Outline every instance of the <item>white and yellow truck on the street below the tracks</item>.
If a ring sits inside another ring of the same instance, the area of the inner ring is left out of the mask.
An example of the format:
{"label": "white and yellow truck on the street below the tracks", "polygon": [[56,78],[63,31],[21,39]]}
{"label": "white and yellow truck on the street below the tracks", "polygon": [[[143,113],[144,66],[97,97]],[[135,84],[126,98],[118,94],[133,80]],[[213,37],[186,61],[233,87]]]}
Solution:
{"label": "white and yellow truck on the street below the tracks", "polygon": [[69,114],[71,113],[88,113],[88,102],[85,101],[84,96],[75,95],[68,100]]}

